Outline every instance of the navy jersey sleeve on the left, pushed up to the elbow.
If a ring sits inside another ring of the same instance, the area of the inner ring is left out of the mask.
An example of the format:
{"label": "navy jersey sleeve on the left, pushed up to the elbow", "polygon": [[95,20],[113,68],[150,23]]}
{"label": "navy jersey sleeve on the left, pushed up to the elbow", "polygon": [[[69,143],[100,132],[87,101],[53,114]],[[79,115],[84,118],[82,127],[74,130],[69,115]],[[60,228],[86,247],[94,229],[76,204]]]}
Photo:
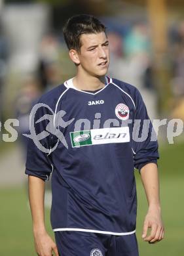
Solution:
{"label": "navy jersey sleeve on the left, pushed up to the elbow", "polygon": [[[39,103],[39,102],[38,102]],[[37,122],[41,117],[49,115],[49,110],[45,106],[37,109],[35,113],[33,125],[35,128],[35,135],[32,135],[37,140],[37,143],[29,138],[28,150],[27,150],[27,160],[26,160],[26,171],[27,175],[32,175],[43,179],[46,181],[49,179],[50,173],[52,173],[52,160],[48,156],[48,152],[43,152],[42,147],[49,149],[51,145],[51,135],[46,132],[46,126],[49,120],[44,119],[43,121]],[[43,139],[39,140],[38,135],[43,135]],[[47,136],[46,136],[47,135]]]}

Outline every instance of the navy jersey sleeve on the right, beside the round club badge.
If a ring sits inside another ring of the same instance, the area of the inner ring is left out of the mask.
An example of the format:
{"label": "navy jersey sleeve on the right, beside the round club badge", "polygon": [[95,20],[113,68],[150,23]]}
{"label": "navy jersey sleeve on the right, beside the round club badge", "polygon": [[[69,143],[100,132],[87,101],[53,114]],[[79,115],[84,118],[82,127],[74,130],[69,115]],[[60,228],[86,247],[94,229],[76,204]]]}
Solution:
{"label": "navy jersey sleeve on the right, beside the round club badge", "polygon": [[147,163],[157,164],[159,158],[158,142],[145,103],[138,90],[136,90],[136,115],[132,133],[132,150],[134,152],[134,167],[139,171]]}

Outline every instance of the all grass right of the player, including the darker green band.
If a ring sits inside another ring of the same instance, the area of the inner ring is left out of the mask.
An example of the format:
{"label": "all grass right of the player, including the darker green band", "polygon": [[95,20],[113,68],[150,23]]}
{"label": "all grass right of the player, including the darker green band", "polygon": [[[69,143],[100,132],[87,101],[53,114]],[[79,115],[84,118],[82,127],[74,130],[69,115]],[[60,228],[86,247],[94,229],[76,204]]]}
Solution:
{"label": "all grass right of the player, including the darker green band", "polygon": [[168,144],[160,147],[158,171],[160,173],[160,199],[162,219],[165,226],[164,240],[157,244],[148,244],[141,239],[144,217],[147,213],[147,200],[141,184],[140,175],[136,172],[138,190],[137,238],[140,256],[174,256],[183,255],[184,245],[184,144]]}

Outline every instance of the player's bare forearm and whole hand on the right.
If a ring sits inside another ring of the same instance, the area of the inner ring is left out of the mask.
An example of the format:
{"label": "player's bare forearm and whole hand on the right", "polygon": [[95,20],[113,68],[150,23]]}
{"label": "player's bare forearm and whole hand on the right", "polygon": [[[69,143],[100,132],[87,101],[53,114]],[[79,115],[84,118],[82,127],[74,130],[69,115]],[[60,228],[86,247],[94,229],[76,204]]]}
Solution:
{"label": "player's bare forearm and whole hand on the right", "polygon": [[[164,238],[164,224],[162,223],[161,217],[159,179],[156,163],[147,163],[147,165],[141,168],[141,180],[149,204],[143,224],[142,238],[147,242],[154,243]],[[151,234],[147,236],[148,228],[151,228]]]}

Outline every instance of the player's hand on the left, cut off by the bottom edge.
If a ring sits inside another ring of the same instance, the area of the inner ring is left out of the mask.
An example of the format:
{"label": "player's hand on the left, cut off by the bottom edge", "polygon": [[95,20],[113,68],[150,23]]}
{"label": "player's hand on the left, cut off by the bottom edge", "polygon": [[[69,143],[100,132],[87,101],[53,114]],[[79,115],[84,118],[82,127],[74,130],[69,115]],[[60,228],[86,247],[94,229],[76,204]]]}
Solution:
{"label": "player's hand on the left, cut off by the bottom edge", "polygon": [[52,238],[45,232],[34,232],[35,249],[39,256],[52,256],[54,251],[56,256],[59,256],[56,244]]}

